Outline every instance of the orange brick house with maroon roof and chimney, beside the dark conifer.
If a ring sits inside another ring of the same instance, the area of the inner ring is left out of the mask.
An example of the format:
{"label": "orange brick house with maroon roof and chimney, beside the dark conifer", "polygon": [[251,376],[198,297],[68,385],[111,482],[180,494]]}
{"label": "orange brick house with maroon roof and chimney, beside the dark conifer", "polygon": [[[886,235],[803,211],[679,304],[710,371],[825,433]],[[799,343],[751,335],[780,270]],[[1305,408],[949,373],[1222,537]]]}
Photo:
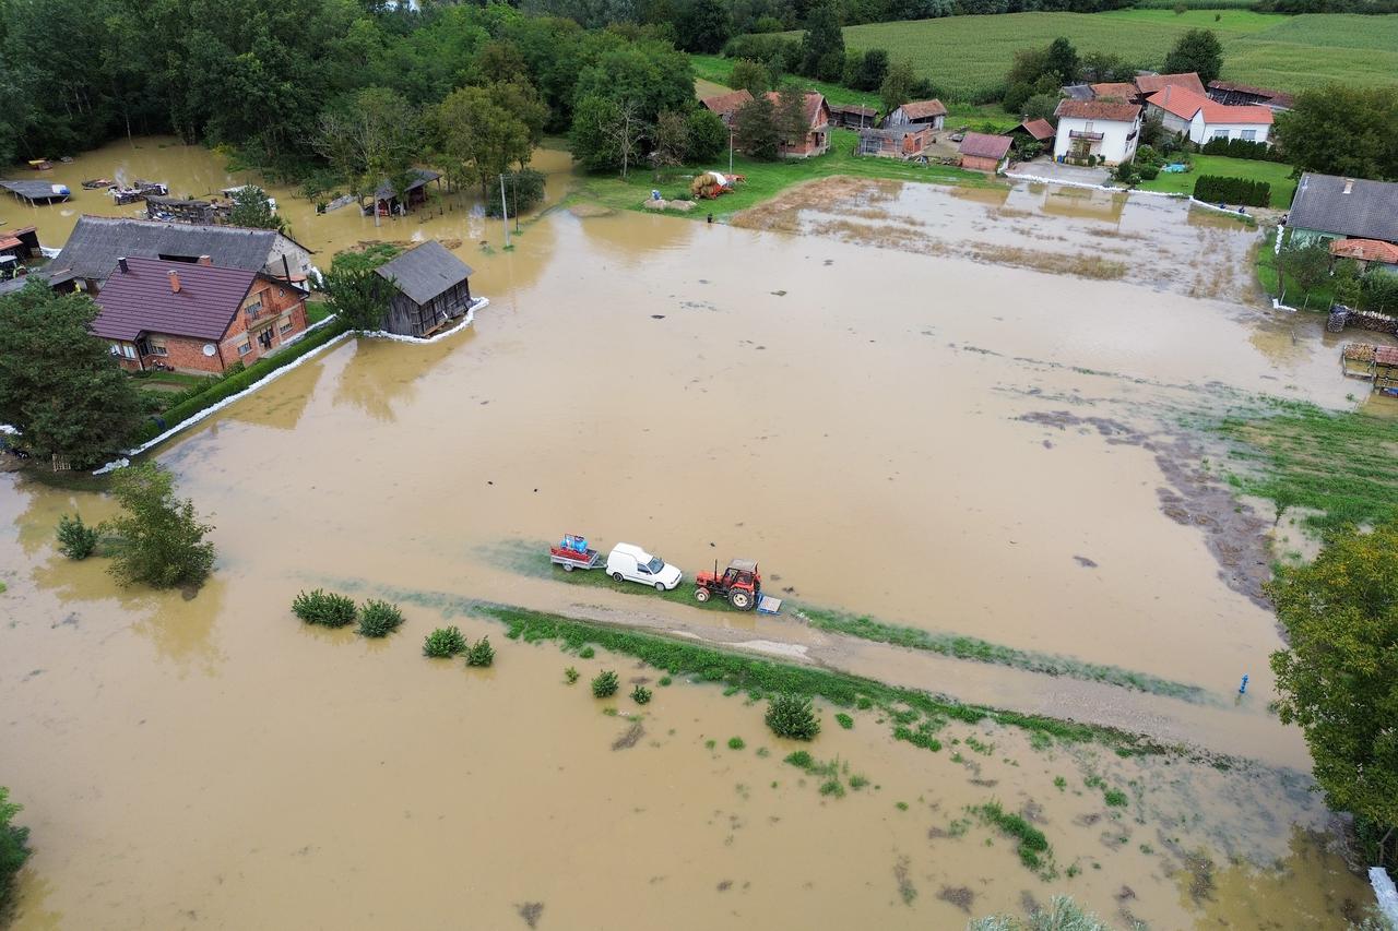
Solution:
{"label": "orange brick house with maroon roof and chimney, beside the dark conifer", "polygon": [[263,271],[119,259],[94,301],[92,331],[122,368],[218,375],[252,365],[306,329],[306,292]]}

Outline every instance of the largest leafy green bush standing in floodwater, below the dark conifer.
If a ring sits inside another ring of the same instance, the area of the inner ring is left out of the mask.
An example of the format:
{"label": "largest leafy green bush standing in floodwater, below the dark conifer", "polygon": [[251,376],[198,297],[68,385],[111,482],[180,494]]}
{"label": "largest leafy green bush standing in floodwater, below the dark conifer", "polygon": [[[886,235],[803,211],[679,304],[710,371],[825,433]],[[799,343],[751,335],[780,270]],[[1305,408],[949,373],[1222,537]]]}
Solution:
{"label": "largest leafy green bush standing in floodwater, below the dark conifer", "polygon": [[152,461],[117,470],[112,496],[122,506],[103,530],[117,538],[109,572],[123,586],[199,587],[214,569],[214,530],[192,500],[175,496],[175,477]]}

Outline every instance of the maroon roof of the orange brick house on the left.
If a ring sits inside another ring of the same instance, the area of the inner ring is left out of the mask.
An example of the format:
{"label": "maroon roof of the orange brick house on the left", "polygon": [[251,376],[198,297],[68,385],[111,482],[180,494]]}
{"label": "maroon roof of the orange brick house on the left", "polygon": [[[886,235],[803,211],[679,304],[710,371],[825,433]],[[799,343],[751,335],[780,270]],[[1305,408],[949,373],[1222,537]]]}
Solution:
{"label": "maroon roof of the orange brick house on the left", "polygon": [[[94,298],[102,312],[92,331],[105,340],[168,333],[217,342],[257,278],[246,268],[189,261],[127,259],[126,264],[127,271],[113,271]],[[171,291],[171,271],[179,275],[179,292]]]}

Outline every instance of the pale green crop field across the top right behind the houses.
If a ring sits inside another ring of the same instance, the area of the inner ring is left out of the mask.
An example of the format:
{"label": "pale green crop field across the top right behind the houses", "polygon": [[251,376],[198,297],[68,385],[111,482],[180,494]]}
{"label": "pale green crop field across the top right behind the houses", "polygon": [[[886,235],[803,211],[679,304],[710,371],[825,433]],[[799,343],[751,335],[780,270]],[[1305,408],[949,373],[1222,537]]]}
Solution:
{"label": "pale green crop field across the top right behind the houses", "polygon": [[910,60],[948,98],[988,99],[1016,50],[1060,35],[1072,39],[1079,53],[1114,52],[1138,66],[1159,67],[1174,41],[1195,28],[1213,29],[1222,41],[1226,80],[1283,91],[1331,81],[1398,87],[1398,14],[1011,13],[847,27],[844,41],[851,50],[881,48]]}

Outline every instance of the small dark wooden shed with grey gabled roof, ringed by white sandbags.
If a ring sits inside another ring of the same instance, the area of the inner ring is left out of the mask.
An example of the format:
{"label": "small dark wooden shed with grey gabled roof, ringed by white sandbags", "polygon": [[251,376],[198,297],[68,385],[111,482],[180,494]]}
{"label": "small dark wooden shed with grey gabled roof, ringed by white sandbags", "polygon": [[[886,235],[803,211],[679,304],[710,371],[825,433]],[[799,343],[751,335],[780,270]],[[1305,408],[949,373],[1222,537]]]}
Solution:
{"label": "small dark wooden shed with grey gabled roof, ringed by white sandbags", "polygon": [[383,320],[383,329],[397,335],[432,335],[475,303],[471,267],[436,239],[414,246],[377,271],[397,288]]}

